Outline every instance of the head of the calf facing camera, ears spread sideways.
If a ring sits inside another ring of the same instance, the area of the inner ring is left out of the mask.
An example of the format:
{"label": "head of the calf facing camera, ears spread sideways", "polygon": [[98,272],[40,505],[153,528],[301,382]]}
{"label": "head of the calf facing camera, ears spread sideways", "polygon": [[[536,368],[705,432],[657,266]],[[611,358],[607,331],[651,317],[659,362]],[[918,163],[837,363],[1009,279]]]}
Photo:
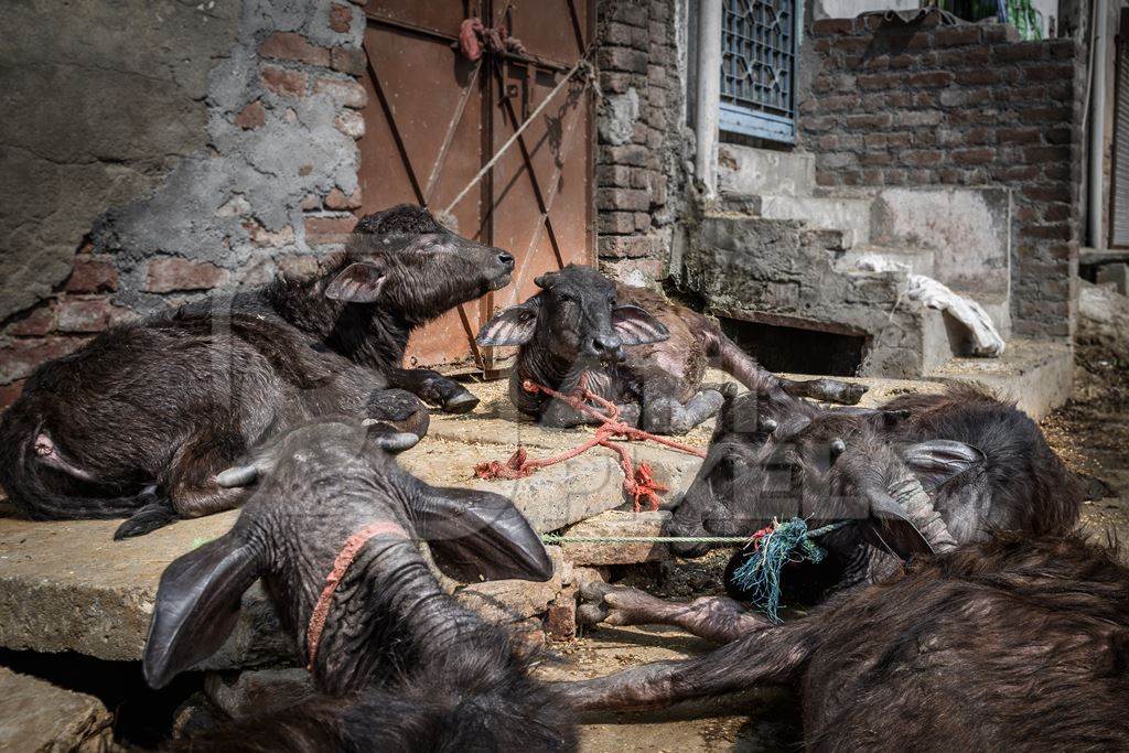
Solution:
{"label": "head of the calf facing camera, ears spread sideways", "polygon": [[496,314],[479,332],[479,344],[532,344],[570,365],[614,364],[623,360],[624,345],[671,336],[648,312],[619,305],[615,283],[590,266],[569,265],[535,282],[541,292]]}

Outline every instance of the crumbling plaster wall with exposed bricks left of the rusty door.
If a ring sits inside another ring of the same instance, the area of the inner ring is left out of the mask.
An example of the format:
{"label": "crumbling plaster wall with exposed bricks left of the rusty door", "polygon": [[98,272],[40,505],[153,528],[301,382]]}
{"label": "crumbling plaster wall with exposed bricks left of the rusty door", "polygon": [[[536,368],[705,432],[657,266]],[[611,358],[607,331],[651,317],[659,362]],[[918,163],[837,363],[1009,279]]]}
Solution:
{"label": "crumbling plaster wall with exposed bricks left of the rusty door", "polygon": [[0,404],[108,324],[338,247],[365,19],[335,0],[5,3]]}

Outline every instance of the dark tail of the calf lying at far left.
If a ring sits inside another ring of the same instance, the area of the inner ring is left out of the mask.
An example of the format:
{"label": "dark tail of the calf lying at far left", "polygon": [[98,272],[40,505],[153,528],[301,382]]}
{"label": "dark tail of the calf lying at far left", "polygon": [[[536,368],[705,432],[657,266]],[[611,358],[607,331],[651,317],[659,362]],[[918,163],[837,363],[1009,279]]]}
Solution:
{"label": "dark tail of the calf lying at far left", "polygon": [[[143,502],[139,493],[73,494],[55,487],[97,489],[90,478],[56,455],[41,458],[35,452],[38,427],[12,406],[0,423],[0,487],[24,517],[33,520],[120,518]],[[87,482],[87,483],[84,483]]]}

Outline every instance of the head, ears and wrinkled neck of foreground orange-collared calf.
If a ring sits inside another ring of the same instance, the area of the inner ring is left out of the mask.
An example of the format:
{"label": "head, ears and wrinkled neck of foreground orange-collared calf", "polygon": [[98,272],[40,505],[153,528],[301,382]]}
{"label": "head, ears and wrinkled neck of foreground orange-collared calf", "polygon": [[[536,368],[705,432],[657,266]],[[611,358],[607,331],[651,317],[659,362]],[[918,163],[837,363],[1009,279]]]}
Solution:
{"label": "head, ears and wrinkled neck of foreground orange-collared calf", "polygon": [[308,658],[315,604],[342,548],[361,531],[377,533],[340,578],[322,639],[333,650],[318,651],[314,666],[315,681],[330,692],[366,682],[379,655],[392,650],[385,643],[404,642],[411,625],[403,623],[426,619],[418,615],[448,629],[458,622],[436,613],[457,607],[413,540],[427,541],[439,569],[463,581],[552,576],[540,537],[509,500],[430,487],[396,465],[388,441],[395,435],[330,420],[292,429],[255,456],[250,475],[259,483],[231,531],[161,576],[143,664],[151,685],[218,650],[259,578]]}

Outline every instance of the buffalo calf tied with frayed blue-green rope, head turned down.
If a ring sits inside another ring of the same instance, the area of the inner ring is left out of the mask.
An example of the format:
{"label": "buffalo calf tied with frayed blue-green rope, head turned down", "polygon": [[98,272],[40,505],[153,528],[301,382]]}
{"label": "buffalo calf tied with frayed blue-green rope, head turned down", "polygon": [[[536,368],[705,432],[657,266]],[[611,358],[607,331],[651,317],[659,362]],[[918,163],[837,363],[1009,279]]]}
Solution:
{"label": "buffalo calf tied with frayed blue-green rope, head turned down", "polygon": [[[751,536],[803,517],[812,528],[851,525],[822,536],[819,564],[789,562],[781,601],[812,604],[829,592],[874,583],[914,554],[983,541],[992,531],[1065,534],[1078,519],[1080,488],[1038,424],[1014,405],[972,387],[902,395],[875,410],[820,409],[779,395],[727,396],[709,454],[664,533]],[[707,544],[671,544],[698,557]],[[750,594],[726,569],[726,589]],[[689,605],[640,592],[589,585],[580,611],[589,623],[673,623],[725,642],[747,625],[728,598]],[[756,620],[750,616],[749,619]]]}

